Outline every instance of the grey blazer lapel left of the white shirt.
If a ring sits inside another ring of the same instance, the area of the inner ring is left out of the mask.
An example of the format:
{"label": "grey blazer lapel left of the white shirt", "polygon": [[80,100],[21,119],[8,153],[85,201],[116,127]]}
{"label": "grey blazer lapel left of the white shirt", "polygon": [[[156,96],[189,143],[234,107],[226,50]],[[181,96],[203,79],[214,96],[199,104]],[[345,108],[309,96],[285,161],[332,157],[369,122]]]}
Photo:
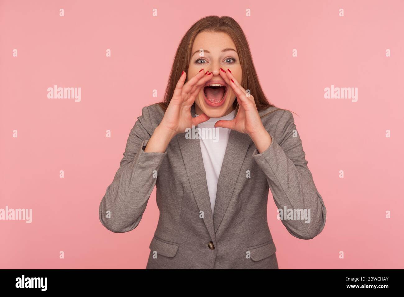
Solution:
{"label": "grey blazer lapel left of the white shirt", "polygon": [[[195,104],[191,107],[192,117],[195,117]],[[177,135],[177,140],[181,149],[181,154],[185,164],[185,171],[194,194],[196,204],[200,211],[204,213],[204,223],[210,237],[215,242],[215,231],[213,227],[212,208],[208,184],[206,182],[206,172],[202,159],[202,151],[199,139],[186,139],[186,133]]]}

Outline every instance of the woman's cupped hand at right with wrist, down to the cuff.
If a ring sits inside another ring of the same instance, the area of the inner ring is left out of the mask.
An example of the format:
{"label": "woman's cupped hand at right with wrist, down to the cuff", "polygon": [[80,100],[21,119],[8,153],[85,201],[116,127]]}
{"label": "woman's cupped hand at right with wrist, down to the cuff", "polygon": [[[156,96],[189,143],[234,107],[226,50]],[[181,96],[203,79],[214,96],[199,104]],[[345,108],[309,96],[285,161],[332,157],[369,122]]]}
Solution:
{"label": "woman's cupped hand at right with wrist, down to the cuff", "polygon": [[240,86],[229,69],[227,71],[220,69],[219,73],[236,94],[239,107],[233,120],[219,120],[215,123],[215,127],[246,133],[251,137],[260,153],[265,151],[271,145],[272,139],[262,124],[254,97]]}

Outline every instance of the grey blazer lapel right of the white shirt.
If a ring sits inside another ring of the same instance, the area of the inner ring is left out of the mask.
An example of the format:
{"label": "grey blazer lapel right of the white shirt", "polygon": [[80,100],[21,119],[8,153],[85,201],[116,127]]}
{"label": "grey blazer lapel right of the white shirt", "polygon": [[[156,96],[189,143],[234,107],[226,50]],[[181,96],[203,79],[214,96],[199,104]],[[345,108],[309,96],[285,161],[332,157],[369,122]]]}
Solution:
{"label": "grey blazer lapel right of the white shirt", "polygon": [[248,147],[252,143],[249,135],[234,130],[230,131],[229,141],[223,158],[223,163],[217,182],[213,224],[215,233],[225,215],[234,187],[240,174],[241,166],[246,158]]}

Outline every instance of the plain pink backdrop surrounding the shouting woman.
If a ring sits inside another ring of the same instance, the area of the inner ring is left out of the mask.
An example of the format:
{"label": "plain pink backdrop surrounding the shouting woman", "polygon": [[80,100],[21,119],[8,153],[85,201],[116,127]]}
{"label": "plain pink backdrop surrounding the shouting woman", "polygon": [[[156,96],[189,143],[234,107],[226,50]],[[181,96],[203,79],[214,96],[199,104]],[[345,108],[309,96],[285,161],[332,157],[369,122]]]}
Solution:
{"label": "plain pink backdrop surrounding the shouting woman", "polygon": [[[240,23],[265,94],[299,114],[327,208],[322,233],[300,240],[269,194],[279,267],[404,268],[403,11],[402,1],[0,1],[0,208],[33,211],[30,224],[0,221],[0,268],[145,268],[155,190],[124,234],[101,225],[99,203],[141,108],[162,100],[181,37],[206,15]],[[48,99],[54,84],[81,87],[81,102]],[[358,87],[358,102],[324,99],[331,84]]]}

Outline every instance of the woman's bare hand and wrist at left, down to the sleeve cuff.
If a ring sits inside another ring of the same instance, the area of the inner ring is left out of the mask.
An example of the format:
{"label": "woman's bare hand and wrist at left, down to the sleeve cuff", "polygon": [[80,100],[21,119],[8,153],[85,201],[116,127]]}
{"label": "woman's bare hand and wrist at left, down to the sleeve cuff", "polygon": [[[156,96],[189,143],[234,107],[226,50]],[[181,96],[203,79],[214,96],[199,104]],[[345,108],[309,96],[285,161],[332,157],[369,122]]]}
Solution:
{"label": "woman's bare hand and wrist at left, down to the sleeve cuff", "polygon": [[193,118],[191,106],[194,104],[200,90],[211,78],[211,74],[212,72],[205,74],[202,68],[198,74],[185,84],[187,74],[185,72],[181,74],[163,119],[147,142],[145,152],[164,153],[168,143],[175,135],[184,133],[187,128],[192,128],[192,126],[209,120],[206,114]]}

